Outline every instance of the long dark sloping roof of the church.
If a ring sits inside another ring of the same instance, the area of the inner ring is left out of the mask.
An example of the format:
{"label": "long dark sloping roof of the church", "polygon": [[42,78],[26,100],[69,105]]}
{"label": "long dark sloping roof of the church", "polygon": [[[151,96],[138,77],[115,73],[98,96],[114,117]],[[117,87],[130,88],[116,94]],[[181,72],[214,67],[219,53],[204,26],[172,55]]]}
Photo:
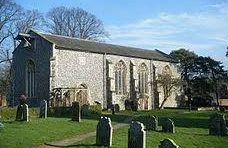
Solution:
{"label": "long dark sloping roof of the church", "polygon": [[48,42],[62,48],[68,48],[68,49],[77,48],[80,50],[86,50],[86,51],[98,52],[98,53],[110,53],[114,55],[116,54],[116,55],[122,55],[122,56],[132,56],[132,57],[139,57],[139,58],[145,58],[145,59],[173,61],[168,54],[157,49],[151,50],[151,49],[144,49],[139,47],[116,45],[111,43],[103,43],[98,41],[79,39],[75,37],[38,32],[35,30],[30,30],[30,31],[36,33],[37,35],[44,38]]}

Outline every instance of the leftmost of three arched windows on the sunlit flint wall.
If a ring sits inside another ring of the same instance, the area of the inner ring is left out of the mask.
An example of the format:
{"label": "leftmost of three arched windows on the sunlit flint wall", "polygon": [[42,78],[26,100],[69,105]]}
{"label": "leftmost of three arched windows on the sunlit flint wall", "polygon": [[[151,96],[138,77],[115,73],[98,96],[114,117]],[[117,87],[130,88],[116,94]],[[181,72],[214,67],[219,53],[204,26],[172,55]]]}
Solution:
{"label": "leftmost of three arched windows on the sunlit flint wall", "polygon": [[126,74],[127,67],[123,61],[115,65],[115,91],[118,95],[126,93]]}

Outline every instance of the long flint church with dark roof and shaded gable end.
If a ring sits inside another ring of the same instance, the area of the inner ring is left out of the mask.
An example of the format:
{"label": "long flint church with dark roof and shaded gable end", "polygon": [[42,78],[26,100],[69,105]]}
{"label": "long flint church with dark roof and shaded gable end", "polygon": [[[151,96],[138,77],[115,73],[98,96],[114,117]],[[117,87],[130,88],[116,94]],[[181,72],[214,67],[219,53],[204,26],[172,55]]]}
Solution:
{"label": "long flint church with dark roof and shaded gable end", "polygon": [[[104,109],[137,101],[140,110],[158,108],[164,97],[157,74],[179,77],[177,62],[159,50],[52,35],[30,30],[16,37],[13,51],[11,103],[24,94],[31,104],[46,99],[51,106],[73,101],[101,104]],[[179,104],[180,91],[165,107]]]}

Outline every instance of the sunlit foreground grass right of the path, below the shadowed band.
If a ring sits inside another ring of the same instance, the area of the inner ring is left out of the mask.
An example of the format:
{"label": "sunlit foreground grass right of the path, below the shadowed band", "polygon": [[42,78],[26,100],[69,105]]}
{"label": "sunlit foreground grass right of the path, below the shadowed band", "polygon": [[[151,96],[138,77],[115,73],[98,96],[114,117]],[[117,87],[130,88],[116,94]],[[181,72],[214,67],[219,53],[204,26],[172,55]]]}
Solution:
{"label": "sunlit foreground grass right of the path, below the shadowed band", "polygon": [[[114,130],[113,148],[127,147],[128,127]],[[157,148],[159,141],[164,138],[173,139],[181,148],[226,148],[228,146],[228,137],[209,136],[208,130],[203,128],[176,128],[176,133],[162,133],[155,131],[146,132],[146,145],[148,148]],[[95,137],[75,143],[72,147],[93,146]]]}

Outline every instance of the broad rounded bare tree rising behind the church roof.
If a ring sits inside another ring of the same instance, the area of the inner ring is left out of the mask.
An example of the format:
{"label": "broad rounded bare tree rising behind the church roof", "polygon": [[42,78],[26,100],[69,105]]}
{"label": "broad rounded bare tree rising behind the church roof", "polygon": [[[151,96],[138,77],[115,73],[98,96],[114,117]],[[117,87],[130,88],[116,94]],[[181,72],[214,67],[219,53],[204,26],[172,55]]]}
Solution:
{"label": "broad rounded bare tree rising behind the church roof", "polygon": [[47,16],[48,28],[53,34],[88,40],[108,37],[102,21],[81,8],[56,7],[51,9]]}

